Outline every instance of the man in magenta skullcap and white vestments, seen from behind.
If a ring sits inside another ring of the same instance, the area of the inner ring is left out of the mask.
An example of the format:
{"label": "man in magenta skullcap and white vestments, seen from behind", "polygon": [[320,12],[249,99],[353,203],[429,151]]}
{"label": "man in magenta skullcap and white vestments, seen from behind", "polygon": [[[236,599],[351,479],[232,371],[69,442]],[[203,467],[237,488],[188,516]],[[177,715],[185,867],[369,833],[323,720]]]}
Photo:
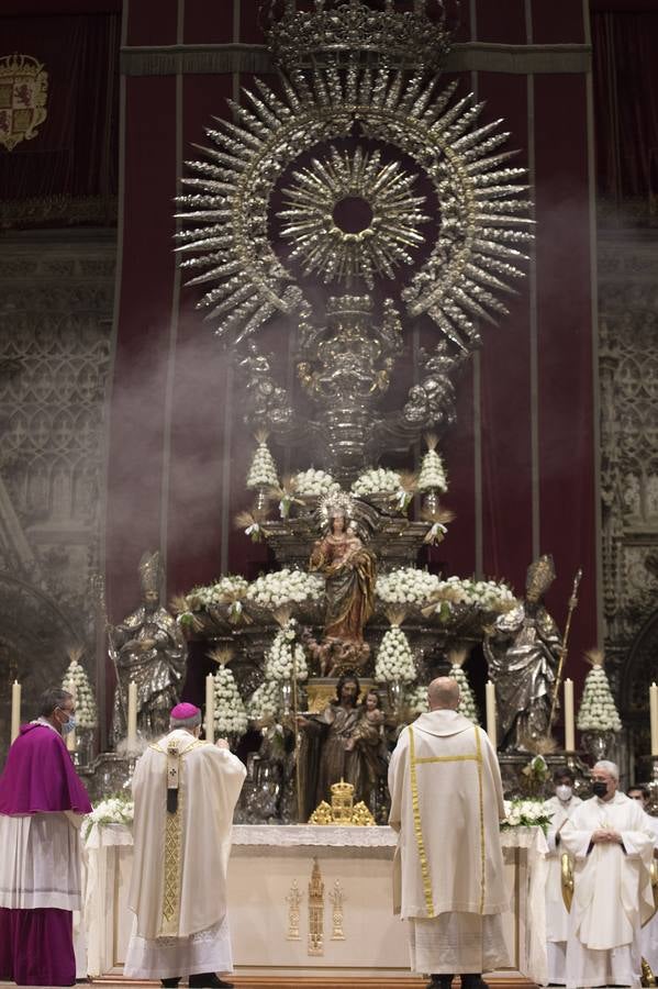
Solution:
{"label": "man in magenta skullcap and white vestments, seen from behind", "polygon": [[233,811],[246,770],[220,738],[199,741],[201,712],[177,704],[169,734],[150,745],[133,776],[135,914],[124,975],[175,987],[231,986],[226,869]]}

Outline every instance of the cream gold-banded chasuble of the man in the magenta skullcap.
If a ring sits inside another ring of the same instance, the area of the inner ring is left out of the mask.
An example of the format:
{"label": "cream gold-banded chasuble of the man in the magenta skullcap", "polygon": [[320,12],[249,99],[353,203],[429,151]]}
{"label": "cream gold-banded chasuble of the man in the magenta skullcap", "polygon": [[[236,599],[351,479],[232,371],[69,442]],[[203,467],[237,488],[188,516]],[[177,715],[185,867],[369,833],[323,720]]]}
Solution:
{"label": "cream gold-banded chasuble of the man in the magenta skullcap", "polygon": [[[176,813],[169,813],[167,776],[174,752],[178,797]],[[245,775],[231,752],[180,729],[138,760],[129,907],[140,938],[183,938],[219,930],[226,915],[233,811]]]}

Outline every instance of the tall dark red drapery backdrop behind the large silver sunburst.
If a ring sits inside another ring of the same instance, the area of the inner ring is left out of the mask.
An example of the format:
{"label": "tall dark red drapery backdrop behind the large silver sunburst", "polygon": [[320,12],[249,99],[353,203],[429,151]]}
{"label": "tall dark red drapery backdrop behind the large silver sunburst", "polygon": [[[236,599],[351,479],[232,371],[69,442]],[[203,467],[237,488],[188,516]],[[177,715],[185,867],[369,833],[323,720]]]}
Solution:
{"label": "tall dark red drapery backdrop behind the large silver sunburst", "polygon": [[[134,46],[261,43],[254,3],[142,0],[124,25]],[[549,9],[547,9],[549,8]],[[583,44],[572,0],[475,5],[464,40]],[[234,11],[239,16],[234,23]],[[135,604],[142,552],[160,546],[169,592],[228,569],[255,576],[266,551],[232,527],[249,503],[244,478],[253,448],[241,421],[239,382],[180,286],[171,252],[177,147],[194,156],[203,125],[227,115],[225,98],[248,76],[200,71],[129,75],[121,134],[124,179],[120,303],[110,404],[107,577],[110,616]],[[564,623],[577,567],[585,577],[568,673],[584,673],[596,641],[596,492],[591,316],[591,216],[585,73],[480,70],[465,86],[504,116],[511,145],[534,176],[536,271],[520,286],[510,318],[459,385],[458,423],[444,454],[446,501],[457,512],[435,555],[445,570],[506,577],[518,592],[534,553],[551,552],[558,579],[549,610]],[[424,335],[423,331],[421,337]],[[272,344],[286,349],[276,331]],[[411,344],[410,344],[411,345]],[[278,452],[281,454],[281,452]],[[282,456],[282,454],[281,454]],[[309,460],[312,456],[309,455]]]}

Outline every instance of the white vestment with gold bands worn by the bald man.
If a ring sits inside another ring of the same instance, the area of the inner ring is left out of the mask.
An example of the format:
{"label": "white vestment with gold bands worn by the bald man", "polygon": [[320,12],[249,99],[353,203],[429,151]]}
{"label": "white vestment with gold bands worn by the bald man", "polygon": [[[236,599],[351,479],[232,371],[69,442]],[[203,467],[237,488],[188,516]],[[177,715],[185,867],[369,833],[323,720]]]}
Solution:
{"label": "white vestment with gold bands worn by the bald man", "polygon": [[421,714],[400,735],[389,787],[390,824],[399,832],[395,912],[409,919],[508,910],[503,791],[486,733],[456,711]]}

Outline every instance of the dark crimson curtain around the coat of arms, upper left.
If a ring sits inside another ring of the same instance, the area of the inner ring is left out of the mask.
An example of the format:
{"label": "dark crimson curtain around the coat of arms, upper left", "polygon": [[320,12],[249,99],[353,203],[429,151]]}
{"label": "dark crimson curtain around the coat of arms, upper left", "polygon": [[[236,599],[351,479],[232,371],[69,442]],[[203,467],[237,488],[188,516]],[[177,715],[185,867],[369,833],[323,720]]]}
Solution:
{"label": "dark crimson curtain around the coat of arms, upper left", "polygon": [[25,7],[22,15],[0,14],[0,55],[18,52],[44,64],[47,118],[32,140],[0,148],[3,223],[112,224],[121,15],[47,15]]}

